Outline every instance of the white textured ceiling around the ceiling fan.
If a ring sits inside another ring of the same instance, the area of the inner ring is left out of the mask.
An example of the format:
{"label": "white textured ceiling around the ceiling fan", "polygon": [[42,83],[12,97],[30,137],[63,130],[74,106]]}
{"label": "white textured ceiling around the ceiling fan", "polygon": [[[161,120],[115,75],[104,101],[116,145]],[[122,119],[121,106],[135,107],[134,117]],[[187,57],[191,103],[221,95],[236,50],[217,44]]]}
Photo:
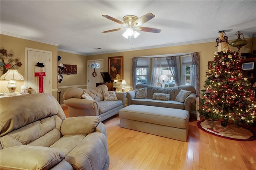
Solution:
{"label": "white textured ceiling around the ceiling fan", "polygon": [[[236,39],[256,34],[256,1],[0,1],[0,33],[58,45],[60,51],[91,55],[189,43],[213,42],[219,30]],[[123,28],[106,14],[122,21],[125,15],[155,17],[142,24],[158,33],[140,32],[132,44]],[[101,49],[97,49],[101,48]]]}

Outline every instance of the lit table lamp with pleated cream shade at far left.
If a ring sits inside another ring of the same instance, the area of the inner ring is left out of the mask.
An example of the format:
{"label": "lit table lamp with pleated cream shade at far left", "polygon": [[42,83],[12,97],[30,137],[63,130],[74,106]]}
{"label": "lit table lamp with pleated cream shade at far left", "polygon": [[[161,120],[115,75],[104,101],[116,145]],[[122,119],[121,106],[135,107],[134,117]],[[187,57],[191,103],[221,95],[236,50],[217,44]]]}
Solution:
{"label": "lit table lamp with pleated cream shade at far left", "polygon": [[24,77],[18,72],[18,70],[8,69],[8,71],[0,77],[0,80],[10,80],[7,88],[9,90],[9,95],[14,95],[17,88],[16,81],[14,80],[24,80]]}

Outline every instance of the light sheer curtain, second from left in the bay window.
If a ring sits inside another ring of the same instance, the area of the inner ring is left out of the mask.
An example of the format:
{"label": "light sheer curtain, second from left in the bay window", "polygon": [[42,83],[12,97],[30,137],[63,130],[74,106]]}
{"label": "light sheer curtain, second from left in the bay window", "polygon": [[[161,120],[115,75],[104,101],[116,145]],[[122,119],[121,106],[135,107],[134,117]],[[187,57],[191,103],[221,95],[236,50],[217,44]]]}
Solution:
{"label": "light sheer curtain, second from left in the bay window", "polygon": [[157,85],[158,77],[160,76],[160,73],[161,73],[160,72],[161,71],[161,62],[162,62],[161,58],[153,58],[151,81],[150,81],[150,85],[152,85],[152,86]]}

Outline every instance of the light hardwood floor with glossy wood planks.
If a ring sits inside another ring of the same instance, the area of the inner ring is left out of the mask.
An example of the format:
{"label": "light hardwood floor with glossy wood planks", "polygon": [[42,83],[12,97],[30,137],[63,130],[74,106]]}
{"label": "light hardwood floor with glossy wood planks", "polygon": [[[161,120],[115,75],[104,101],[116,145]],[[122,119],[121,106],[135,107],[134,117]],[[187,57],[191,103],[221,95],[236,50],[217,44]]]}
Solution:
{"label": "light hardwood floor with glossy wood planks", "polygon": [[[68,116],[66,106],[62,107]],[[103,121],[110,170],[256,170],[256,140],[239,142],[200,130],[195,116],[187,142],[121,128],[118,116]]]}

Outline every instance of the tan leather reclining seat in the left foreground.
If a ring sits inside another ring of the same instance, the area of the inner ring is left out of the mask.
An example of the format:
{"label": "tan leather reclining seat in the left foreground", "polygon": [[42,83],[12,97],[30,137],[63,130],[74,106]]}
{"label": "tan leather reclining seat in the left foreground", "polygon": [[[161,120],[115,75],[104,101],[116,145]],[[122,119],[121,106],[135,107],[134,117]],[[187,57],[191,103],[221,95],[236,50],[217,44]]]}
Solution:
{"label": "tan leather reclining seat in the left foreground", "polygon": [[0,99],[0,169],[107,170],[100,117],[66,118],[47,93]]}

